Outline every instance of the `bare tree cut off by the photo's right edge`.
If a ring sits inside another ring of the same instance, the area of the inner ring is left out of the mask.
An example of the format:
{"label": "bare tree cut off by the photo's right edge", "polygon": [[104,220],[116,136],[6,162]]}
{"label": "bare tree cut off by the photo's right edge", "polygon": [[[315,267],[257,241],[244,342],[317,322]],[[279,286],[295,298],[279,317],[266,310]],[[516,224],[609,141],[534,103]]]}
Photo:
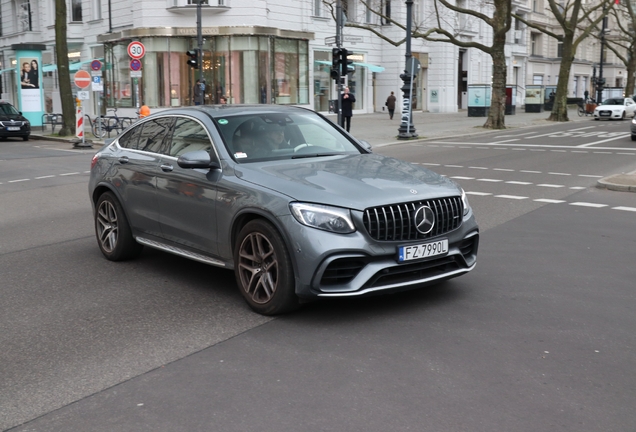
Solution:
{"label": "bare tree cut off by the photo's right edge", "polygon": [[[634,75],[636,74],[636,4],[623,1],[610,11],[615,18],[618,32],[605,37],[605,44],[627,68],[625,96],[636,93]],[[599,31],[601,31],[599,29]]]}

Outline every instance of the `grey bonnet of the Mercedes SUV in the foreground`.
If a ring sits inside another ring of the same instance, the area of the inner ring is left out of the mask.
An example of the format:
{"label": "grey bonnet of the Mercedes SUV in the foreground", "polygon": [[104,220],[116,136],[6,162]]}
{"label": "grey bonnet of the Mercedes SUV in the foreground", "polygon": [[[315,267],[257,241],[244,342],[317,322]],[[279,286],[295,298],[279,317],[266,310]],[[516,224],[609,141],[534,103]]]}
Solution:
{"label": "grey bonnet of the Mercedes SUV in the foreground", "polygon": [[295,200],[357,210],[461,194],[446,177],[377,154],[241,164],[235,172]]}

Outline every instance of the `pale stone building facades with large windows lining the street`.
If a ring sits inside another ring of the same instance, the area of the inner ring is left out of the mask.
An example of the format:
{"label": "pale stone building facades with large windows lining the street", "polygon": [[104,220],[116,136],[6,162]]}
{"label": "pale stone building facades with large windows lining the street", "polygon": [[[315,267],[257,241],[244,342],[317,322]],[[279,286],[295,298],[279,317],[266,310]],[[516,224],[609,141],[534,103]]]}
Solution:
{"label": "pale stone building facades with large windows lining the street", "polygon": [[[542,0],[514,0],[518,13],[532,20],[550,18]],[[547,2],[547,0],[545,0]],[[68,47],[71,71],[90,71],[102,62],[103,91],[90,91],[89,114],[98,106],[134,115],[140,105],[153,111],[192,105],[196,80],[205,80],[204,103],[292,104],[327,112],[337,99],[330,79],[335,20],[322,0],[202,0],[202,68],[187,64],[187,51],[197,48],[196,0],[67,0]],[[335,3],[335,2],[334,2]],[[377,5],[375,4],[377,3]],[[456,0],[460,7],[490,13],[492,6]],[[404,1],[371,1],[385,16],[405,22]],[[392,41],[404,30],[371,13],[359,0],[342,0],[348,23],[366,26]],[[9,0],[0,3],[0,71],[2,99],[19,105],[20,84],[15,47],[39,44],[46,112],[60,112],[55,58],[55,0]],[[419,30],[436,25],[433,4],[414,0],[413,25]],[[445,12],[445,22],[465,41],[489,44],[491,30],[468,15]],[[343,46],[353,52],[347,82],[356,94],[354,113],[381,111],[391,91],[400,95],[405,44],[394,45],[363,28],[344,28]],[[131,76],[128,45],[145,47],[141,76]],[[468,86],[489,84],[490,57],[474,48],[413,38],[413,56],[421,69],[413,82],[413,108],[455,112],[466,108]],[[577,52],[571,93],[583,94],[591,85],[595,55],[590,41]],[[556,84],[560,60],[556,42],[515,22],[506,46],[508,82],[517,105],[524,102],[527,84]],[[608,55],[606,61],[612,61]],[[624,68],[623,68],[623,72]],[[620,68],[606,65],[608,83],[621,84]],[[78,90],[78,89],[75,89]],[[89,88],[91,90],[91,88]],[[99,101],[99,104],[98,104]],[[399,107],[398,107],[399,110]]]}

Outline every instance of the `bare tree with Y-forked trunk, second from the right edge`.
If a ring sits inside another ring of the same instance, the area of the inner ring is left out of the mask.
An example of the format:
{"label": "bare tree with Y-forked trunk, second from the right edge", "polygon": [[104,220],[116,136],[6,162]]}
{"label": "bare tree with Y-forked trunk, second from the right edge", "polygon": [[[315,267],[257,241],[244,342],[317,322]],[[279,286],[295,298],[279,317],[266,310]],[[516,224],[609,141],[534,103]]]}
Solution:
{"label": "bare tree with Y-forked trunk, second from the right edge", "polygon": [[[544,26],[531,23],[517,14],[512,14],[516,19],[535,30],[538,30],[550,37],[555,38],[563,44],[563,53],[561,55],[561,66],[559,68],[559,81],[557,83],[557,91],[554,97],[554,105],[548,120],[551,121],[568,121],[568,83],[570,82],[570,71],[572,70],[572,62],[576,54],[579,44],[590,35],[595,26],[603,20],[603,14],[595,12],[607,6],[609,2],[603,0],[589,9],[584,9],[582,0],[567,0],[565,4],[559,0],[548,0],[548,5],[552,15],[556,19],[562,34],[550,31]],[[582,24],[586,23],[586,24]]]}

